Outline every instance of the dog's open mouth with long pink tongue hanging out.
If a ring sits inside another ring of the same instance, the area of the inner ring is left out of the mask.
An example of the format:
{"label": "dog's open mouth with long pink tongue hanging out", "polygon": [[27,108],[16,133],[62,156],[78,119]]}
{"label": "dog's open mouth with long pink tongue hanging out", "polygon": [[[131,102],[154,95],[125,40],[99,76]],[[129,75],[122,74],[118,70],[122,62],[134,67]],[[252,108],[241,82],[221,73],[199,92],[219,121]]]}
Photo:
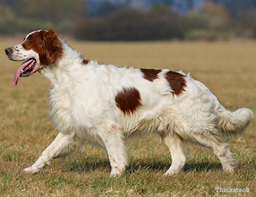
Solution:
{"label": "dog's open mouth with long pink tongue hanging out", "polygon": [[15,75],[13,76],[12,84],[16,86],[19,77],[28,77],[35,73],[34,68],[36,64],[37,60],[35,60],[34,58],[30,58],[26,60],[26,62],[21,64],[21,66],[19,66],[19,68],[15,72]]}

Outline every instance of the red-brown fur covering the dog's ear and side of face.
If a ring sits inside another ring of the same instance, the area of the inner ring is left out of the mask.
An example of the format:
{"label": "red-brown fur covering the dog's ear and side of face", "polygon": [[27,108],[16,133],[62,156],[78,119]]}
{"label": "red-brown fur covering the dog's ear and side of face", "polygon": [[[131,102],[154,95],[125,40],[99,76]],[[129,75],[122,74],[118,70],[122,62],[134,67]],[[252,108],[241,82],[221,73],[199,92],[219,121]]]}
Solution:
{"label": "red-brown fur covering the dog's ear and side of face", "polygon": [[39,54],[40,64],[50,65],[62,57],[62,42],[53,30],[42,30],[29,35],[22,46]]}

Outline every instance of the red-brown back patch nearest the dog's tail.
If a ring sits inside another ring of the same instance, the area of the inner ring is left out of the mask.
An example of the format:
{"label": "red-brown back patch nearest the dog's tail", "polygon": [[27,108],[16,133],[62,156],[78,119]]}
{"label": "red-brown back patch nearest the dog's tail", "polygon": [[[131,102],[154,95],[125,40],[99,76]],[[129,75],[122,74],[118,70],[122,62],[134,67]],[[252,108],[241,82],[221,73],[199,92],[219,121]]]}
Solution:
{"label": "red-brown back patch nearest the dog's tail", "polygon": [[180,95],[183,91],[185,91],[186,82],[184,75],[169,71],[168,73],[165,73],[165,79],[167,82],[169,82],[172,90],[174,91],[173,94]]}

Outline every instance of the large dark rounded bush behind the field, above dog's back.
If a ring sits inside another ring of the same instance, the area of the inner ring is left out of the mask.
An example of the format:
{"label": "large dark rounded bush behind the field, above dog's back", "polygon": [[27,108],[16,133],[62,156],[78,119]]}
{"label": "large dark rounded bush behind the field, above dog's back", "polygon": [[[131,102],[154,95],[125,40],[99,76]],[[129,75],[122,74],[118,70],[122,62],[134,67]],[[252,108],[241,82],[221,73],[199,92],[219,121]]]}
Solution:
{"label": "large dark rounded bush behind the field, above dog's back", "polygon": [[105,17],[86,19],[74,30],[77,39],[87,40],[161,40],[183,38],[183,18],[165,14],[122,10]]}

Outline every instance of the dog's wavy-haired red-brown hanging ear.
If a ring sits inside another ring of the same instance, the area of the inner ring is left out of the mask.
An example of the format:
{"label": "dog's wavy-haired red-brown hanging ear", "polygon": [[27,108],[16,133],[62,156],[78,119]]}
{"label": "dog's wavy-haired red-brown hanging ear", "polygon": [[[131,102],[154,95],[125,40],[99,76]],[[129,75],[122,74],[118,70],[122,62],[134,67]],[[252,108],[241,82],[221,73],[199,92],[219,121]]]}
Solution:
{"label": "dog's wavy-haired red-brown hanging ear", "polygon": [[62,57],[62,42],[53,30],[43,30],[41,39],[40,62],[44,65],[53,64],[53,62]]}

